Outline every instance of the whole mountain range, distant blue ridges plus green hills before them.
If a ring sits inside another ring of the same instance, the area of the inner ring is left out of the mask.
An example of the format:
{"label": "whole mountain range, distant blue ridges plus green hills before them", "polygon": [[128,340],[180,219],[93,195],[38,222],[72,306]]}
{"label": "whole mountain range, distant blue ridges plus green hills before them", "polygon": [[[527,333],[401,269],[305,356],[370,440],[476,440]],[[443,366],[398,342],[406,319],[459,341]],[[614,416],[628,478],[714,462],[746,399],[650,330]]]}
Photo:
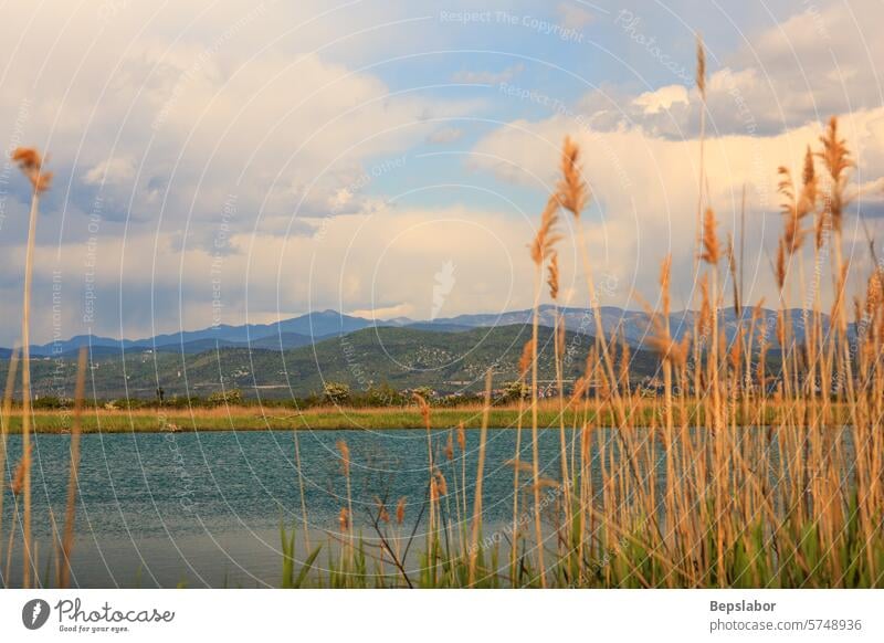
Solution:
{"label": "whole mountain range, distant blue ridges plus green hills before them", "polygon": [[[555,313],[552,306],[540,308],[540,377],[550,381]],[[594,319],[581,308],[559,308],[558,313],[568,329],[564,375],[572,380],[581,375],[588,348],[594,342]],[[77,336],[32,347],[33,391],[39,397],[70,397],[76,351],[88,346],[90,386],[102,399],[152,398],[158,388],[169,397],[206,396],[230,388],[250,397],[306,397],[320,392],[328,381],[347,383],[354,390],[390,384],[398,389],[428,386],[443,394],[476,392],[488,368],[494,369],[496,383],[516,379],[516,365],[530,337],[532,315],[527,309],[418,322],[402,317],[372,320],[323,310],[275,324],[224,325],[140,340]],[[673,336],[680,339],[692,329],[695,315],[672,314]],[[744,315],[748,317],[749,312]],[[793,309],[789,315],[801,338],[802,312]],[[600,317],[606,336],[617,333],[632,345],[633,380],[656,375],[659,359],[643,348],[650,315],[604,307]],[[757,322],[771,344],[776,317],[776,312],[762,310]],[[719,318],[732,339],[737,333],[735,312],[720,310]],[[9,354],[6,349],[0,359]]]}

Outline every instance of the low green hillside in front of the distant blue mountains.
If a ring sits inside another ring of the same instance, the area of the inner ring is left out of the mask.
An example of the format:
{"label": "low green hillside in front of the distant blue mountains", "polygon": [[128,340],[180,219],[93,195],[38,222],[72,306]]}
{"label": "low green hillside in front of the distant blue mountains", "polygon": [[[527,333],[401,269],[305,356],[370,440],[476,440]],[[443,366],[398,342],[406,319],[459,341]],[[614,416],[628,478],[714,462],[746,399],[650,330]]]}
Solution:
{"label": "low green hillside in front of the distant blue mountains", "polygon": [[[313,346],[285,350],[221,348],[196,355],[127,352],[95,356],[88,388],[97,398],[154,398],[157,386],[167,397],[207,396],[222,388],[241,389],[253,397],[291,398],[320,392],[324,382],[336,381],[354,391],[381,383],[396,389],[430,387],[439,393],[477,391],[485,370],[493,366],[497,386],[516,379],[523,346],[530,327],[474,328],[461,333],[414,328],[366,328]],[[552,380],[552,330],[539,329],[540,379]],[[566,372],[582,375],[593,339],[566,335]],[[70,397],[75,359],[41,359],[33,363],[34,392]],[[648,352],[632,355],[632,377],[652,375],[656,359]],[[3,372],[7,361],[2,362]]]}

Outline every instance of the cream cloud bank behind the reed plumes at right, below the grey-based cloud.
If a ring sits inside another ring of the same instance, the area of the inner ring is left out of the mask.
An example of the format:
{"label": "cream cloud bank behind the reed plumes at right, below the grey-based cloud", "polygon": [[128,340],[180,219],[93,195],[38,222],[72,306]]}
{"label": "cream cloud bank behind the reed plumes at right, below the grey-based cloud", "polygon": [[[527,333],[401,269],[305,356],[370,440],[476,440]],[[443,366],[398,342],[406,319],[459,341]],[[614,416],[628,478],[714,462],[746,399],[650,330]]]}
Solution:
{"label": "cream cloud bank behind the reed plumes at right, below the grey-based cloud", "polygon": [[[854,150],[856,183],[884,176],[884,107],[841,115],[841,133]],[[715,208],[720,233],[740,230],[741,191],[747,192],[747,299],[776,301],[768,253],[781,230],[777,167],[800,176],[808,145],[817,148],[822,133],[815,124],[768,136],[729,134],[706,141],[708,202]],[[517,120],[481,139],[470,167],[498,179],[548,193],[557,179],[558,156],[566,135],[580,144],[583,172],[593,208],[583,217],[587,234],[600,247],[593,262],[631,284],[611,303],[635,305],[634,294],[657,292],[660,261],[672,254],[673,283],[681,287],[677,305],[691,303],[693,246],[696,231],[699,144],[696,138],[650,136],[641,127],[600,131],[583,122],[557,115],[537,122]],[[874,183],[877,186],[877,183]],[[874,193],[874,189],[872,190]],[[861,194],[851,203],[845,224],[846,254],[863,270],[866,259],[857,211],[877,211],[878,197]],[[774,241],[772,241],[774,240]],[[615,250],[614,250],[615,249]]]}

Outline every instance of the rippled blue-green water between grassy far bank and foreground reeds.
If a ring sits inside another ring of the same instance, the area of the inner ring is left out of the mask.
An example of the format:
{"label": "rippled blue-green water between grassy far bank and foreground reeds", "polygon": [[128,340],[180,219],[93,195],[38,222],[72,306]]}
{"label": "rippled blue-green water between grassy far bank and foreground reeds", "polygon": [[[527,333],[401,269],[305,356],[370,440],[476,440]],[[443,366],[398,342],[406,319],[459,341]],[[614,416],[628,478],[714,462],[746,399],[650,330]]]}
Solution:
{"label": "rippled blue-green water between grassy far bank and foreground reeds", "polygon": [[[446,432],[434,432],[435,447]],[[478,431],[467,431],[467,497],[475,484]],[[512,519],[515,431],[490,431],[484,478],[484,516],[490,524]],[[376,496],[389,498],[392,514],[406,496],[407,525],[420,512],[427,491],[427,433],[302,432],[301,458],[312,530],[337,529],[346,486],[335,443],[346,440],[352,458],[355,525],[370,533],[366,509]],[[73,582],[80,587],[255,587],[280,582],[280,524],[302,525],[294,441],[291,432],[207,432],[91,434],[83,436]],[[67,435],[38,435],[32,495],[34,537],[44,575],[51,548],[50,510],[61,525],[67,487]],[[530,458],[529,432],[523,457]],[[12,466],[20,436],[10,436]],[[546,475],[559,478],[558,431],[541,431]],[[453,473],[443,471],[453,491]],[[454,467],[464,460],[456,449]],[[523,475],[523,478],[526,477]],[[472,510],[472,505],[471,505]],[[14,520],[8,488],[3,534]],[[420,530],[419,530],[420,534]],[[20,541],[19,541],[20,544]],[[2,544],[6,557],[7,542]],[[19,547],[17,546],[17,552]],[[320,560],[324,560],[320,556]],[[12,584],[21,565],[13,565]]]}

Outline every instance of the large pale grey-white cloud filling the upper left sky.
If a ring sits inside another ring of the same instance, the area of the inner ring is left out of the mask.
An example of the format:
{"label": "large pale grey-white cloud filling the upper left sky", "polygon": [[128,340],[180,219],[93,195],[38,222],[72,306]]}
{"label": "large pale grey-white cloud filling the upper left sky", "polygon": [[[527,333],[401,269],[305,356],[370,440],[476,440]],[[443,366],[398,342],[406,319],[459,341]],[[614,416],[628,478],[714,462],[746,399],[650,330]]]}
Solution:
{"label": "large pale grey-white cloud filling the upper left sky", "polygon": [[[56,190],[71,186],[65,208],[88,212],[99,199],[105,219],[209,235],[231,196],[240,231],[361,212],[377,199],[375,177],[362,180],[372,164],[419,145],[432,119],[469,110],[456,98],[391,91],[336,60],[347,57],[344,44],[330,55],[323,45],[362,27],[350,51],[388,46],[367,10],[348,12],[345,27],[323,18],[319,2],[124,4],[96,18],[50,0],[0,24],[4,42],[21,43],[2,81],[0,139],[18,123],[49,152]],[[285,38],[292,30],[298,36]]]}

